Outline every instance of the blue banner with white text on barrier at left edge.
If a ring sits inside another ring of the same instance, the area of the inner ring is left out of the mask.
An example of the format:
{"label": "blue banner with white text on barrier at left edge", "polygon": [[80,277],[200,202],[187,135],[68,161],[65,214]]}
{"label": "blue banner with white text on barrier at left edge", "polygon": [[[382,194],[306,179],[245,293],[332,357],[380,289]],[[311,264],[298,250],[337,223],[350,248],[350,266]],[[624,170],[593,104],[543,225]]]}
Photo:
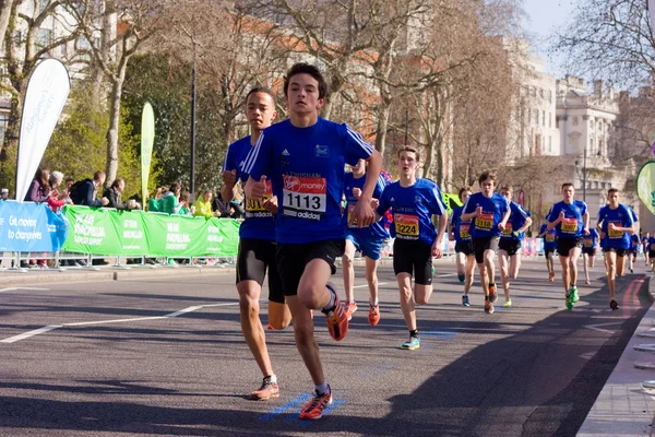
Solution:
{"label": "blue banner with white text on barrier at left edge", "polygon": [[0,201],[0,252],[53,252],[67,231],[64,216],[44,203]]}

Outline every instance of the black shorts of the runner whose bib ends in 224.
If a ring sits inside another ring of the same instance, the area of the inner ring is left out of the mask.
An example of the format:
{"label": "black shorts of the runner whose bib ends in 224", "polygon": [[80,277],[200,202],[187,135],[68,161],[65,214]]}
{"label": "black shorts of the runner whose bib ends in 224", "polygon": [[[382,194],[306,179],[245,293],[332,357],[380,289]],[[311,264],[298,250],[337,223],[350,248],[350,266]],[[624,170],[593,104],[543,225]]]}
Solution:
{"label": "black shorts of the runner whose bib ends in 224", "polygon": [[409,273],[419,285],[432,283],[432,246],[421,240],[393,241],[393,272]]}

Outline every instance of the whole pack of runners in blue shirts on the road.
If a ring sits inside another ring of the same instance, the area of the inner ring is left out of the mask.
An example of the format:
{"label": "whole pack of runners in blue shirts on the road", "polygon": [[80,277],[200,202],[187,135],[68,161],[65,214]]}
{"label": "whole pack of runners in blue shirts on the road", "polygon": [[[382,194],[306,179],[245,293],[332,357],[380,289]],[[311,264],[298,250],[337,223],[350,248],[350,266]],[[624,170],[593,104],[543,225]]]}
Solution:
{"label": "whole pack of runners in blue shirts on the road", "polygon": [[[319,345],[314,339],[314,311],[325,317],[330,335],[342,340],[357,310],[353,259],[359,250],[366,262],[369,287],[368,321],[380,321],[377,268],[384,241],[392,237],[393,269],[400,304],[409,332],[404,350],[420,347],[416,305],[432,293],[433,258],[442,257],[446,231],[455,241],[457,276],[464,283],[462,305],[469,306],[473,270],[477,263],[485,295],[485,311],[492,314],[498,298],[495,259],[499,257],[504,307],[511,307],[510,282],[521,265],[521,243],[532,225],[529,214],[512,201],[512,188],[496,192],[496,175],[478,178],[479,192],[460,190],[464,205],[449,220],[439,187],[417,178],[419,153],[409,146],[397,153],[398,180],[382,170],[382,156],[346,125],[319,117],[325,103],[326,83],[320,71],[297,63],[287,72],[284,95],[289,118],[273,123],[275,95],[253,88],[246,102],[251,134],[230,144],[225,157],[222,194],[234,197],[237,184],[246,193],[246,214],[240,227],[237,291],[241,329],[263,381],[250,399],[279,397],[265,329],[260,320],[260,296],[267,272],[269,329],[284,329],[293,320],[296,346],[314,383],[314,397],[300,418],[317,420],[332,403]],[[352,172],[345,172],[348,164]],[[611,190],[610,190],[611,192]],[[573,199],[571,184],[562,187],[563,201],[555,204],[543,226],[550,280],[552,248],[562,265],[567,306],[577,300],[575,262],[590,234],[584,202]],[[599,237],[610,281],[622,260],[623,236],[633,231],[632,215],[610,196],[599,215]],[[438,227],[433,216],[437,215]],[[621,236],[619,236],[619,233]],[[628,241],[630,237],[628,236]],[[655,239],[652,241],[655,249]],[[551,248],[549,250],[549,248]],[[653,259],[655,259],[655,253]],[[618,257],[618,258],[617,258]],[[342,259],[345,302],[342,304],[330,276]],[[617,272],[618,273],[618,272]],[[619,273],[620,274],[620,273]],[[412,280],[414,279],[414,287]],[[612,308],[618,308],[610,285]]]}

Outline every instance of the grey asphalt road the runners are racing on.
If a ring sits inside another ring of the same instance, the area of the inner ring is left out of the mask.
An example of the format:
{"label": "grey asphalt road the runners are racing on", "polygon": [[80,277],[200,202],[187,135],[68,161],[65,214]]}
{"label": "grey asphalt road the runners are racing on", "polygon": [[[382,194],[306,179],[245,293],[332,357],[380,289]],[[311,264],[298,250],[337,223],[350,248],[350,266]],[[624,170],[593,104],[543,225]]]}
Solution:
{"label": "grey asphalt road the runners are racing on", "polygon": [[599,265],[569,311],[559,279],[526,261],[514,306],[493,315],[477,283],[472,307],[461,306],[453,271],[438,263],[434,294],[418,310],[421,347],[402,351],[392,270],[380,271],[374,328],[357,270],[361,305],[347,338],[332,341],[317,315],[335,401],[315,422],[297,418],[313,386],[290,327],[267,331],[281,398],[245,398],[261,375],[231,274],[0,288],[0,435],[575,435],[651,305],[643,261],[619,280],[618,311]]}

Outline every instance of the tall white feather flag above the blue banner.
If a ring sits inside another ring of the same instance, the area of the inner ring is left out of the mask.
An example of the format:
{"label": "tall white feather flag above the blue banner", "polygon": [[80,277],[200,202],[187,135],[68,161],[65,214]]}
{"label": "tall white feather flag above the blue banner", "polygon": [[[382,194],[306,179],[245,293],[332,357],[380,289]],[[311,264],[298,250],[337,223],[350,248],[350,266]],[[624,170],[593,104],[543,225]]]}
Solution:
{"label": "tall white feather flag above the blue banner", "polygon": [[16,200],[23,201],[71,90],[63,63],[41,61],[29,78],[19,140]]}

